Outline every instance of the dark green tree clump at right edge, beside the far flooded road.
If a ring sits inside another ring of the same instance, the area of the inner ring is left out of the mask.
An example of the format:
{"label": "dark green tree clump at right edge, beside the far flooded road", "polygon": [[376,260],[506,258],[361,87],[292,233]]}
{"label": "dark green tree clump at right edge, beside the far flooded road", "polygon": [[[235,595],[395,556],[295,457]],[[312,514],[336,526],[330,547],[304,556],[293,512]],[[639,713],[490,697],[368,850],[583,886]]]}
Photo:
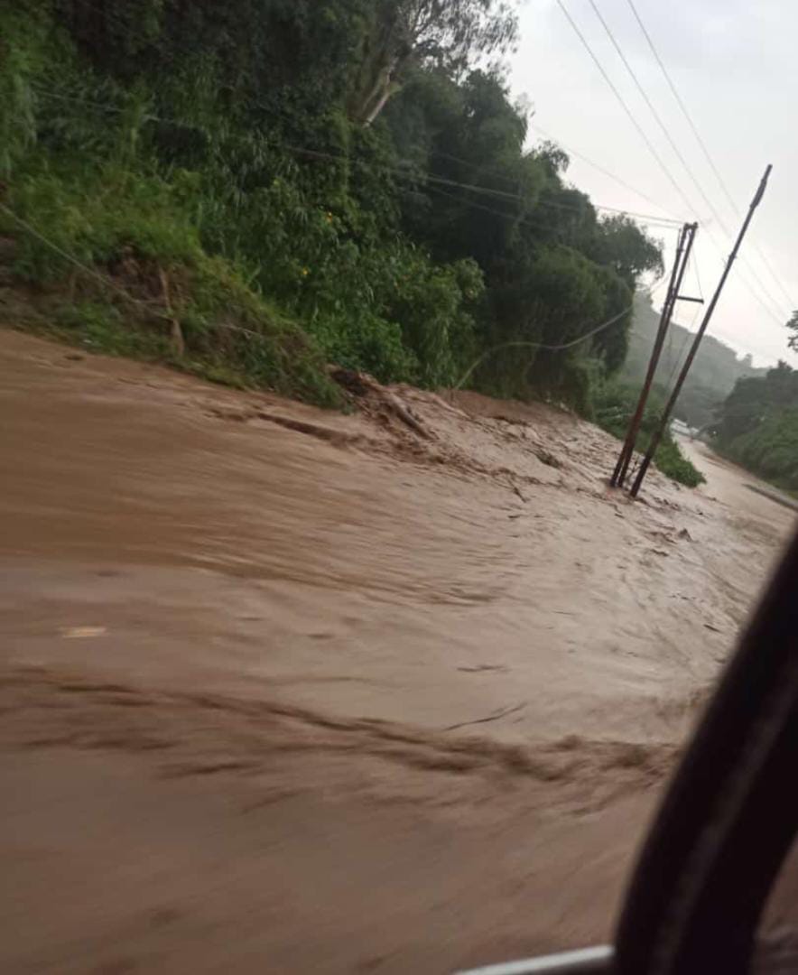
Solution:
{"label": "dark green tree clump at right edge, beside the far flooded road", "polygon": [[779,362],[763,377],[739,379],[712,433],[714,446],[730,459],[798,490],[798,370]]}

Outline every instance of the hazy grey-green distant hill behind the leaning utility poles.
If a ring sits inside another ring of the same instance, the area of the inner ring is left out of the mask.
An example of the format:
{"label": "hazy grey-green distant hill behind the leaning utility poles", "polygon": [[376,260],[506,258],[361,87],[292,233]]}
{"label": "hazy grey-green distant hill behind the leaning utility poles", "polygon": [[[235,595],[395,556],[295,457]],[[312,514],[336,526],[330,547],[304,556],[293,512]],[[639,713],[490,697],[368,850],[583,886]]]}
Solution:
{"label": "hazy grey-green distant hill behind the leaning utility poles", "polygon": [[[620,377],[627,382],[639,383],[648,366],[660,313],[653,308],[647,294],[638,292],[634,305],[627,361]],[[667,391],[672,386],[694,334],[684,326],[671,325],[655,376],[655,385],[661,390]],[[715,418],[715,408],[732,392],[741,376],[764,376],[767,371],[752,366],[750,356],[739,359],[735,350],[725,342],[705,335],[674,415],[689,426],[703,427]]]}

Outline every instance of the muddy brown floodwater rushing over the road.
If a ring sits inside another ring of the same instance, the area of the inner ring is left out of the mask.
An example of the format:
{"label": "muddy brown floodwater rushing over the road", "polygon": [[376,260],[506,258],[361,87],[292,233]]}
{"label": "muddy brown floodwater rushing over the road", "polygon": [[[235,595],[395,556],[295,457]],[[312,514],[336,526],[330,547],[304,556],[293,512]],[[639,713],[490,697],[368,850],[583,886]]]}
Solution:
{"label": "muddy brown floodwater rushing over the road", "polygon": [[793,525],[550,409],[351,416],[0,332],[13,972],[437,973],[605,940]]}

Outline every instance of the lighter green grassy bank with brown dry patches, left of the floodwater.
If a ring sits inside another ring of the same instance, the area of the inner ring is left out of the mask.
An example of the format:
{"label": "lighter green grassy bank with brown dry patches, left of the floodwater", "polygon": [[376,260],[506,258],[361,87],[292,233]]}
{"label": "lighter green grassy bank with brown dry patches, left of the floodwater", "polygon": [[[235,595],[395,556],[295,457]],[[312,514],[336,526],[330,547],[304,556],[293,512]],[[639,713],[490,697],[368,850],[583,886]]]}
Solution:
{"label": "lighter green grassy bank with brown dry patches, left of the floodwater", "polygon": [[[253,291],[238,267],[204,251],[179,177],[166,182],[62,158],[19,172],[10,199],[37,228],[19,234],[12,269],[39,286],[69,282],[55,316],[67,334],[97,350],[179,356],[184,368],[209,378],[340,403],[305,332]],[[17,220],[0,212],[0,233],[15,231]]]}

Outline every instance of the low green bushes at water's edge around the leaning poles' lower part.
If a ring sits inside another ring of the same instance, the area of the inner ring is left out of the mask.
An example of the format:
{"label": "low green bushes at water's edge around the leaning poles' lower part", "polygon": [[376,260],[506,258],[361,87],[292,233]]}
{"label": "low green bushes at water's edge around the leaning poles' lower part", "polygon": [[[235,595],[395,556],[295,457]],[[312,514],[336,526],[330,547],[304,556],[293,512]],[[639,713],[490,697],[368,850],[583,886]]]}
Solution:
{"label": "low green bushes at water's edge around the leaning poles' lower part", "polygon": [[[595,418],[598,425],[623,440],[627,435],[629,420],[637,405],[639,393],[640,388],[637,385],[619,381],[605,385],[597,396]],[[638,447],[647,447],[664,407],[664,397],[656,392],[649,397],[640,425]],[[698,487],[706,480],[702,472],[682,453],[669,430],[665,431],[657,448],[654,463],[663,474],[687,487]]]}

